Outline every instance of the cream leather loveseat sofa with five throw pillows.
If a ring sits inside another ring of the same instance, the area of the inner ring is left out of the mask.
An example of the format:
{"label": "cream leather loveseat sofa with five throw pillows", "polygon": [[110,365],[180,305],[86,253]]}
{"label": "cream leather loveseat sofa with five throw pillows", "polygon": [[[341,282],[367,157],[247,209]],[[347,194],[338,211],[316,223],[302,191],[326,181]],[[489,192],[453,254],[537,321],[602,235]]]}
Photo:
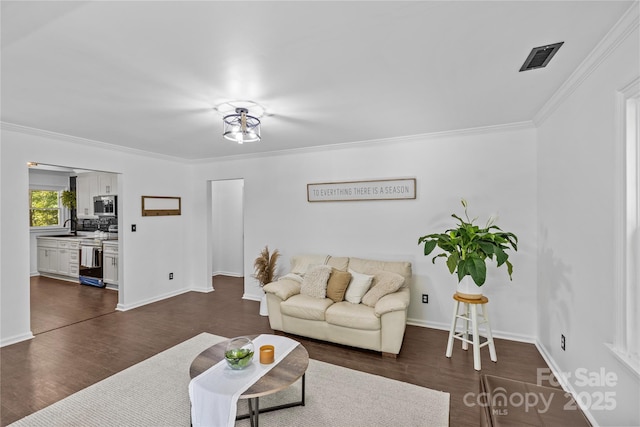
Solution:
{"label": "cream leather loveseat sofa with five throw pillows", "polygon": [[291,272],[263,288],[269,323],[274,330],[396,357],[406,329],[410,279],[409,262],[294,256]]}

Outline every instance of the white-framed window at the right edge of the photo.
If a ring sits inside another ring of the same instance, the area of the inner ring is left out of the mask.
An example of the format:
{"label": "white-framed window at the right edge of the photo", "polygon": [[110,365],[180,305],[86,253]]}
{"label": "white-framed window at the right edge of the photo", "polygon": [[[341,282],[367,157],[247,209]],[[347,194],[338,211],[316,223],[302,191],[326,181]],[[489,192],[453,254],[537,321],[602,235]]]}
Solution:
{"label": "white-framed window at the right edge of the photo", "polygon": [[620,136],[613,353],[640,376],[640,78],[618,94]]}

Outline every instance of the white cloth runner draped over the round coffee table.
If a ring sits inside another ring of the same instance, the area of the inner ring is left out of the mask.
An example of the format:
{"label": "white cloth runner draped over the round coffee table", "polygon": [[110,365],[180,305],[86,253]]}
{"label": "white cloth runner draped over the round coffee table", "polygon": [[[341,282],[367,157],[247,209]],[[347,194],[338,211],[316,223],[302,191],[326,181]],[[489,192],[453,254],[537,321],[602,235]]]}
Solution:
{"label": "white cloth runner draped over the round coffee table", "polygon": [[[275,347],[274,362],[260,363],[260,346]],[[245,369],[234,370],[223,358],[189,383],[191,423],[194,427],[231,427],[236,421],[238,397],[262,378],[298,345],[287,337],[260,335],[253,340],[253,361]]]}

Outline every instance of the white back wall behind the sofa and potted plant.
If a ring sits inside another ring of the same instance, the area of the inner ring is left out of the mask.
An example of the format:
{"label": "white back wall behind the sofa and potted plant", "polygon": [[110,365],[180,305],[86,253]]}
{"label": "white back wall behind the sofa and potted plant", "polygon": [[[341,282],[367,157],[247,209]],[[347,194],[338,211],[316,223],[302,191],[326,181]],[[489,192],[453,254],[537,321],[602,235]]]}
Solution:
{"label": "white back wall behind the sofa and potted plant", "polygon": [[[195,187],[204,198],[208,180],[244,178],[245,297],[259,299],[252,262],[269,245],[283,255],[279,274],[296,253],[329,253],[412,262],[410,321],[448,328],[454,278],[444,264],[422,255],[418,237],[453,225],[460,198],[482,221],[498,213],[498,225],[520,238],[514,280],[506,270],[489,273],[489,296],[497,335],[533,341],[536,299],[535,130],[512,126],[494,130],[414,137],[341,148],[226,159],[196,166]],[[264,142],[268,143],[268,142]],[[461,154],[463,153],[463,154]],[[309,203],[313,182],[415,177],[417,199]],[[197,196],[196,196],[197,198]],[[194,228],[208,226],[202,216]],[[193,242],[206,248],[202,233]],[[200,249],[198,249],[200,250]],[[206,259],[199,253],[202,271]],[[204,276],[205,273],[198,272]],[[428,293],[429,304],[420,302]]]}

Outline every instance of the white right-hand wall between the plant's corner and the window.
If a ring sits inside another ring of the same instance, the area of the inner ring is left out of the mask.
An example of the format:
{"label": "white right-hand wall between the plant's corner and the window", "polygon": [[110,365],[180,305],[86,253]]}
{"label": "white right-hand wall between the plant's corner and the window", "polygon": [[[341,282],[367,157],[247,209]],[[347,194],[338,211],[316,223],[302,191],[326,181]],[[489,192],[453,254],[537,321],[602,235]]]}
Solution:
{"label": "white right-hand wall between the plant's corner and the window", "polygon": [[[615,145],[622,143],[616,91],[639,75],[635,16],[635,32],[539,127],[539,344],[576,391],[594,399],[590,413],[601,425],[640,425],[640,381],[605,346],[615,334],[615,195],[623,173],[615,159]],[[576,384],[576,370],[601,368],[617,375],[615,387]],[[598,410],[595,399],[603,392],[614,393],[615,411]]]}

